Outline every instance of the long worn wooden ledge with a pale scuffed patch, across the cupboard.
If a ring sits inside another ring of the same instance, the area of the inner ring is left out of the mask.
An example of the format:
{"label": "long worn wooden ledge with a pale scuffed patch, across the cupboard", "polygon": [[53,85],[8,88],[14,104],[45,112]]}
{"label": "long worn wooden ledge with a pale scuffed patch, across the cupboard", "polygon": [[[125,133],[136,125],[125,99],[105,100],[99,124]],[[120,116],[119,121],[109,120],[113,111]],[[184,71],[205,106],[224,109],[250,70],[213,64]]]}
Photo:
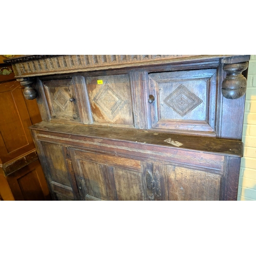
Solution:
{"label": "long worn wooden ledge with a pale scuffed patch, across the cupboard", "polygon": [[[233,157],[243,156],[243,143],[238,140],[218,139],[205,136],[190,136],[183,134],[156,133],[145,130],[113,129],[112,127],[88,127],[73,124],[40,122],[30,126],[32,130],[46,132],[46,136],[58,136],[65,140],[88,140],[100,143],[113,143],[117,146],[126,146],[126,143],[136,142],[138,147],[145,150],[151,145],[165,148],[175,148],[177,150],[187,150],[216,155],[226,155]],[[110,142],[112,141],[112,142]],[[133,144],[134,145],[134,144]]]}

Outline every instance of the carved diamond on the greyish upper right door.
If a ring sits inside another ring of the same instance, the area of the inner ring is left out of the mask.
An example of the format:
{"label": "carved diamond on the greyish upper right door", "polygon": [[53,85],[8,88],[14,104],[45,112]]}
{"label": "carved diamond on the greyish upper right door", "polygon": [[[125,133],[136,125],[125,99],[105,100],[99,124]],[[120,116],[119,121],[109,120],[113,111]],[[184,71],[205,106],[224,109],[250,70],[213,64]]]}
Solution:
{"label": "carved diamond on the greyish upper right door", "polygon": [[182,117],[194,110],[202,102],[199,97],[182,85],[164,99],[164,103]]}

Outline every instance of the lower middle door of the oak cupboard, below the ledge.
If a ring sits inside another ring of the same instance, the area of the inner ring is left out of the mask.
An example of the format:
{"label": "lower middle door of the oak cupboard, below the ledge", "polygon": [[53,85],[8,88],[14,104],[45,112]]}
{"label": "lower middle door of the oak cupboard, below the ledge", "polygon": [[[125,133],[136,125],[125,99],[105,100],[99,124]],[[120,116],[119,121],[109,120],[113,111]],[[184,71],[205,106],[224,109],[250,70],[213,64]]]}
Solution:
{"label": "lower middle door of the oak cupboard, below the ledge", "polygon": [[128,158],[69,149],[81,200],[147,200],[150,164]]}

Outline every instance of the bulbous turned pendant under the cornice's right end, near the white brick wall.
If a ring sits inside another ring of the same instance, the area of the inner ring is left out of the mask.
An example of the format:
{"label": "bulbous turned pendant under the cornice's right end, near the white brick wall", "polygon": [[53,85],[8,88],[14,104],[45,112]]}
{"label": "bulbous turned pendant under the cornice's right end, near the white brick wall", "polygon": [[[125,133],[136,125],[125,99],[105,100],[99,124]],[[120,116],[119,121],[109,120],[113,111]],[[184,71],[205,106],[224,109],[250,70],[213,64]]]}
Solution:
{"label": "bulbous turned pendant under the cornice's right end, near the white brick wall", "polygon": [[245,95],[247,80],[242,72],[247,68],[248,62],[224,65],[227,76],[222,82],[222,95],[225,98],[238,99]]}

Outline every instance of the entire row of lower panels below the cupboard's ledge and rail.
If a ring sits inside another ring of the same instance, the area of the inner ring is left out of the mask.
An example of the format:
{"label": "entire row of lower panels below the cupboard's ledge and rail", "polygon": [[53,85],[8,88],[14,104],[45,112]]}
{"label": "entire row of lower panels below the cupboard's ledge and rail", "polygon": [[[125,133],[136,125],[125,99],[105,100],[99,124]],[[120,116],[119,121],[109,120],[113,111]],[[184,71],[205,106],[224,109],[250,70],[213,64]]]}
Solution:
{"label": "entire row of lower panels below the cupboard's ledge and rail", "polygon": [[220,200],[223,172],[40,143],[53,200]]}

